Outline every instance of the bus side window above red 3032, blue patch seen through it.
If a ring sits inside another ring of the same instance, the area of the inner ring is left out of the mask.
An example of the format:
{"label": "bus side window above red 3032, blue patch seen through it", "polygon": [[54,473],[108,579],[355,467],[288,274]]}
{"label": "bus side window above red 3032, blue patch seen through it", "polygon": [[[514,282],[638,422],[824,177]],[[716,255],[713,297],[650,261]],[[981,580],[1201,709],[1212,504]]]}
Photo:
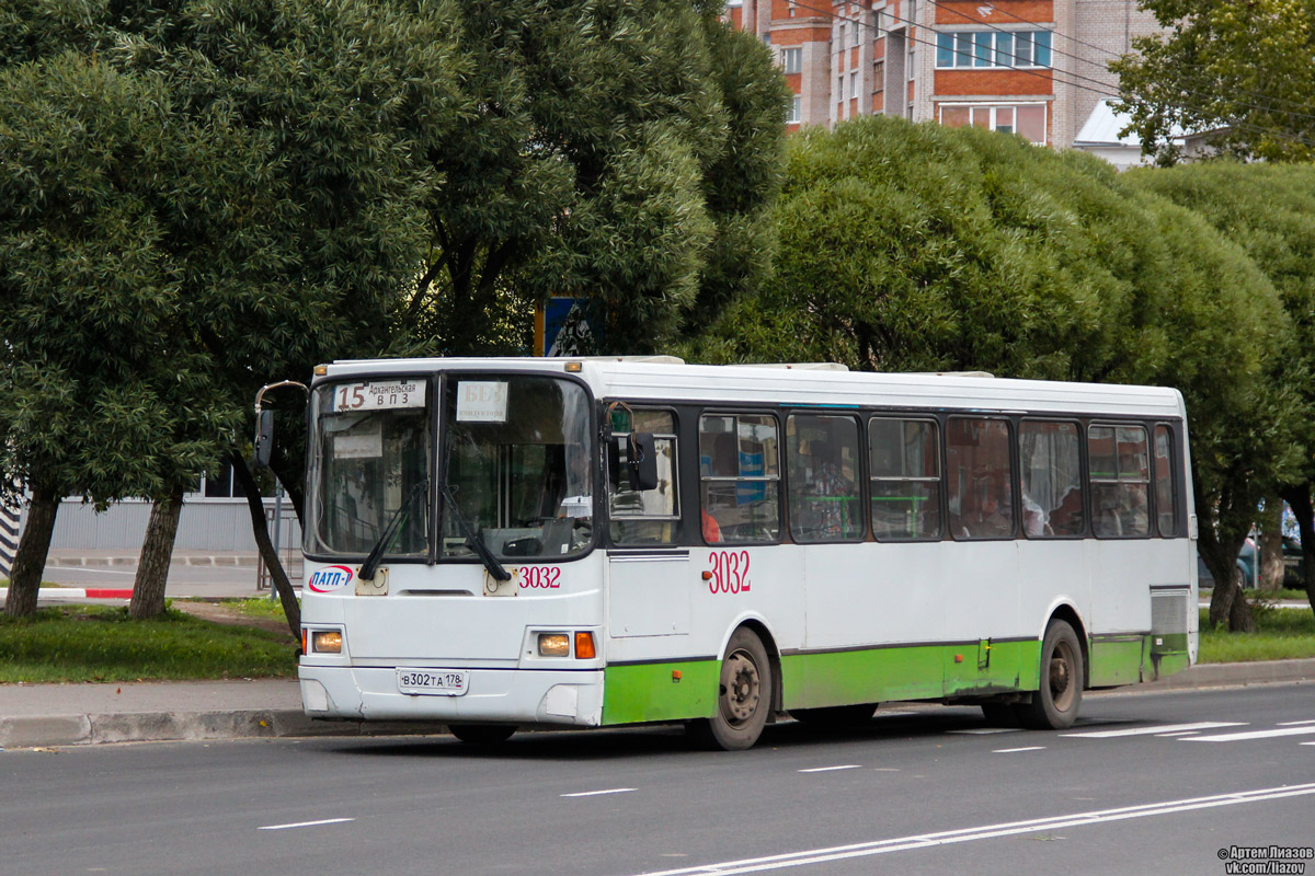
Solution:
{"label": "bus side window above red 3032, blue patch seen through it", "polygon": [[[776,541],[781,535],[776,418],[750,414],[698,419],[698,471],[705,541]],[[709,519],[710,517],[710,519]]]}

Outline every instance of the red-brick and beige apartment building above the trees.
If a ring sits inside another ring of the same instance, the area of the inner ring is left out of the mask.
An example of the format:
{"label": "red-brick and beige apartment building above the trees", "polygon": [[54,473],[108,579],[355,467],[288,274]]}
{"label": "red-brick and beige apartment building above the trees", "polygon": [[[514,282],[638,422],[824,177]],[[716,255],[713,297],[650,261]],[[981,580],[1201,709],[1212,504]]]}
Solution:
{"label": "red-brick and beige apartment building above the trees", "polygon": [[884,113],[1056,148],[1116,96],[1106,64],[1157,29],[1136,0],[739,0],[727,17],[776,53],[792,129]]}

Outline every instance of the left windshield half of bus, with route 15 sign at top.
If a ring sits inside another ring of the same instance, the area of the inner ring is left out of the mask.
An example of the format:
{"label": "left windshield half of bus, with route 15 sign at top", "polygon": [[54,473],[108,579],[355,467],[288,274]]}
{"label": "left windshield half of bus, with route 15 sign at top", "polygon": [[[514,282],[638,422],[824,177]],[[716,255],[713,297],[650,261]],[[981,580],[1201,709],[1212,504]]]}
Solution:
{"label": "left windshield half of bus, with route 15 sign at top", "polygon": [[366,554],[396,516],[384,554],[429,556],[426,389],[423,378],[316,389],[308,554]]}

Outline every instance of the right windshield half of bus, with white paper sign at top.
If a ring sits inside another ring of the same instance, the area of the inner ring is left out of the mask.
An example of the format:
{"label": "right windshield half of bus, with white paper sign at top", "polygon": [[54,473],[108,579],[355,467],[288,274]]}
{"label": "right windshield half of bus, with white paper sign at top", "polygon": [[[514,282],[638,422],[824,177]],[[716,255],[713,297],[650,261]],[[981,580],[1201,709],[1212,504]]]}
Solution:
{"label": "right windshield half of bus, with white paper sign at top", "polygon": [[594,453],[584,387],[510,374],[455,374],[446,387],[442,556],[475,557],[468,529],[500,558],[588,548]]}

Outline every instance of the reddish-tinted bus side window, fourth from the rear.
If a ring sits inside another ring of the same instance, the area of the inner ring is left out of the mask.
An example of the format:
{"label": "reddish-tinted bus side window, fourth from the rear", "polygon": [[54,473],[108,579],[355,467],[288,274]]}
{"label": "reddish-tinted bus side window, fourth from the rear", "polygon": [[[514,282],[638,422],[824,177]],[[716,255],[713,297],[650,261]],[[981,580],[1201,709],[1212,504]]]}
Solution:
{"label": "reddish-tinted bus side window, fourth from the rear", "polygon": [[1006,420],[951,416],[945,424],[949,532],[955,538],[1014,536],[1014,471]]}

